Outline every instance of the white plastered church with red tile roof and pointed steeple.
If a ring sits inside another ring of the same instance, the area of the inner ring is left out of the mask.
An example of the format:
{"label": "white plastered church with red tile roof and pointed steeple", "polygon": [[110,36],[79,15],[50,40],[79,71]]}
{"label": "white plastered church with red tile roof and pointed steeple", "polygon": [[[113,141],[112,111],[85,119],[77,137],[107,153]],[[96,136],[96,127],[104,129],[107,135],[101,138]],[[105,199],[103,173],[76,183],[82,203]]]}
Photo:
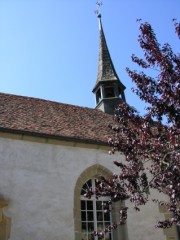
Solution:
{"label": "white plastered church with red tile roof and pointed steeple", "polygon": [[[95,109],[0,93],[0,240],[98,240],[92,231],[118,222],[117,202],[84,197],[99,175],[118,171],[109,156],[108,128],[125,101],[107,46],[101,15]],[[123,203],[130,206],[129,202]],[[163,209],[149,202],[129,209],[127,224],[103,240],[177,240],[175,229],[155,229]]]}

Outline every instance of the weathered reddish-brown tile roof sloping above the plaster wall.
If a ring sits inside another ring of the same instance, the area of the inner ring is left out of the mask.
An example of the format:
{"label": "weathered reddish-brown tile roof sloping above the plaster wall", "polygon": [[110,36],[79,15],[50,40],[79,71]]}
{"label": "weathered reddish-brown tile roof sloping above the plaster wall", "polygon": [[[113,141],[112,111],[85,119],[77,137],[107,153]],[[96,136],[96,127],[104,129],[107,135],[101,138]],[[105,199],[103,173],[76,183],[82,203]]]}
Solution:
{"label": "weathered reddish-brown tile roof sloping above the plaster wall", "polygon": [[0,130],[106,144],[113,117],[100,110],[0,93]]}

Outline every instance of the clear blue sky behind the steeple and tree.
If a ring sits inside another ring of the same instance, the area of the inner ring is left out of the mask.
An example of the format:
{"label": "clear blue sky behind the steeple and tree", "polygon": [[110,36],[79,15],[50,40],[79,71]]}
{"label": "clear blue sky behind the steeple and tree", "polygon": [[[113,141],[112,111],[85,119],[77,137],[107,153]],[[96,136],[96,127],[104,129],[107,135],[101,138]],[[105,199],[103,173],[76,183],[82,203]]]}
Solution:
{"label": "clear blue sky behind the steeple and tree", "polygon": [[[125,68],[142,55],[137,18],[175,52],[179,0],[102,0],[103,28],[126,100],[143,112]],[[99,29],[96,0],[0,0],[0,92],[95,107]],[[152,73],[153,74],[153,73]]]}

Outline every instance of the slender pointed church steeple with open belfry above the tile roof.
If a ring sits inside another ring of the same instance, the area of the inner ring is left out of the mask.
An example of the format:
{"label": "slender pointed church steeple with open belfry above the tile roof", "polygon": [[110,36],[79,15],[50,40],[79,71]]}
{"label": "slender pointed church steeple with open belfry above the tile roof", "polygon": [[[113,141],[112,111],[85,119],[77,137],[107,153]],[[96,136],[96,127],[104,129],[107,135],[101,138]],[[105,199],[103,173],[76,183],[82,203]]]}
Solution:
{"label": "slender pointed church steeple with open belfry above the tile roof", "polygon": [[96,108],[106,113],[114,114],[114,109],[118,103],[125,101],[125,86],[121,83],[115,71],[106,43],[99,11],[97,11],[97,16],[99,21],[100,43],[98,72],[93,93],[96,95]]}

